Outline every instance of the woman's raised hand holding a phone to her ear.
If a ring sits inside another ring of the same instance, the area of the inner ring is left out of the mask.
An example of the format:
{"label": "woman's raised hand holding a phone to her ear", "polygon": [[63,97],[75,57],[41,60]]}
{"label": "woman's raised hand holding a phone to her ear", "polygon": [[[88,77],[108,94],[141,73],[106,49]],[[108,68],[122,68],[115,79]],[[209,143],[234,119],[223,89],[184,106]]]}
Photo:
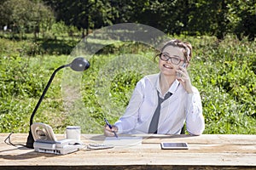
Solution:
{"label": "woman's raised hand holding a phone to her ear", "polygon": [[180,77],[177,76],[177,81],[183,85],[183,88],[189,93],[193,94],[192,84],[190,81],[189,73],[186,68],[179,66],[179,70],[176,71]]}

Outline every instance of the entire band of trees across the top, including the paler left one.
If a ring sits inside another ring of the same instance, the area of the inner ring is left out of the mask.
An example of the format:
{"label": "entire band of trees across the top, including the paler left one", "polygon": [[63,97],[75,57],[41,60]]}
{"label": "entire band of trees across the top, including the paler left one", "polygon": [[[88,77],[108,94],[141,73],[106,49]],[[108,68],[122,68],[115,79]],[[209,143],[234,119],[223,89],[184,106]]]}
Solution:
{"label": "entire band of trees across the top, including the paler left one", "polygon": [[[38,2],[38,1],[37,1]],[[75,26],[84,35],[103,26],[141,23],[166,34],[215,36],[223,39],[233,33],[253,41],[256,33],[255,1],[251,0],[5,0],[0,3],[0,26],[13,25],[13,31],[37,31],[52,36],[55,21]],[[50,8],[49,8],[50,7]],[[26,8],[26,10],[22,10]],[[55,11],[55,20],[53,13]],[[55,32],[55,31],[54,31]],[[56,32],[55,32],[56,33]],[[17,35],[15,36],[17,37]],[[25,38],[19,36],[20,38]]]}

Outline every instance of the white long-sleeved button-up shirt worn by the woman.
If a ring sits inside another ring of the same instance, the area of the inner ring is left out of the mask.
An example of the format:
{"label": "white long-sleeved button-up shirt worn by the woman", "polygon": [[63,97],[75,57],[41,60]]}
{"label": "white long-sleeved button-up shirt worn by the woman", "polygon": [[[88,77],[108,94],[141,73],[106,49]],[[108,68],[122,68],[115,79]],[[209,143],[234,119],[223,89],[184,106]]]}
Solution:
{"label": "white long-sleeved button-up shirt worn by the woman", "polygon": [[[160,90],[160,73],[148,75],[137,82],[124,116],[114,124],[119,129],[118,133],[148,133],[158,105],[157,90],[163,98],[165,94],[161,94]],[[157,133],[179,134],[186,122],[190,134],[200,135],[205,128],[205,122],[197,88],[193,87],[193,94],[188,94],[176,80],[168,92],[172,96],[161,104]]]}

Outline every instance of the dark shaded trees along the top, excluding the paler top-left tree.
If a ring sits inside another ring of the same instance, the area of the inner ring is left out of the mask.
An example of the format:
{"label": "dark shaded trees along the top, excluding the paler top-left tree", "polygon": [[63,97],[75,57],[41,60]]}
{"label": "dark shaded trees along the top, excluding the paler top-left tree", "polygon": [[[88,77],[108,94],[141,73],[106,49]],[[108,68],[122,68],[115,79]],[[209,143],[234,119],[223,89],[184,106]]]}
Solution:
{"label": "dark shaded trees along the top, excluding the paler top-left tree", "polygon": [[85,30],[134,22],[169,34],[255,37],[255,0],[44,0],[58,21]]}

